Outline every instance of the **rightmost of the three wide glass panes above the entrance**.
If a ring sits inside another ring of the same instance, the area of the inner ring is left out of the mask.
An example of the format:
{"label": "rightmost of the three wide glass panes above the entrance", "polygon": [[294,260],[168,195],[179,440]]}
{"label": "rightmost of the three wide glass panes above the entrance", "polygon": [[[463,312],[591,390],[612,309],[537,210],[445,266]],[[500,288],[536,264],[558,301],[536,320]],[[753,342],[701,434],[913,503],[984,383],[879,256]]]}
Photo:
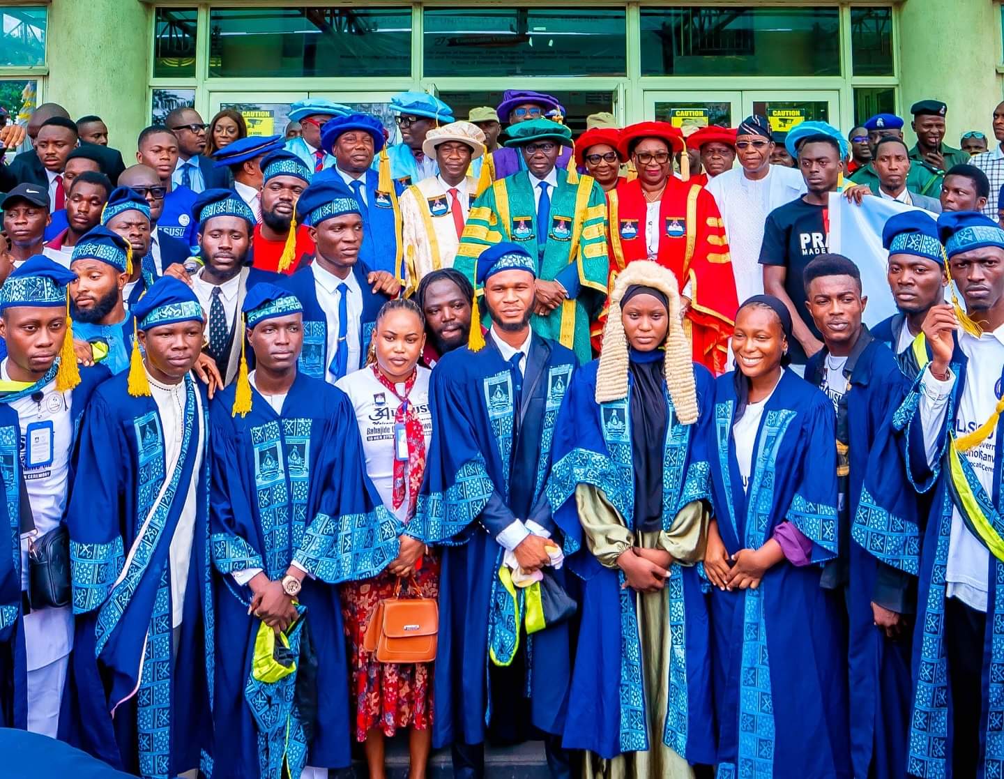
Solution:
{"label": "rightmost of the three wide glass panes above the entrance", "polygon": [[840,75],[837,8],[643,8],[643,75]]}

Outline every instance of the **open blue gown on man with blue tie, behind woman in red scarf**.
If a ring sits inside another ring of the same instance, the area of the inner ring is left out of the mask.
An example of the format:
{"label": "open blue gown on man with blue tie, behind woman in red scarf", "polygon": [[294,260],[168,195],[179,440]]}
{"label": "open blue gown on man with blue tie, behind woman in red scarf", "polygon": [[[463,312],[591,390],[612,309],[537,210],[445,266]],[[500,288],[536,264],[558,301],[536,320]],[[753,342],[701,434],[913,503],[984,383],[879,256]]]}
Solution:
{"label": "open blue gown on man with blue tie, behind woman in red scarf", "polygon": [[[362,290],[362,317],[359,321],[359,354],[365,359],[366,349],[376,326],[376,314],[391,298],[385,294],[373,294],[366,282],[370,269],[362,262],[352,266],[352,274]],[[300,268],[291,276],[284,276],[275,282],[288,289],[303,306],[303,350],[300,352],[299,369],[308,376],[326,380],[327,366],[334,354],[327,353],[327,319],[317,302],[316,282],[310,266]],[[339,376],[340,378],[340,376]]]}

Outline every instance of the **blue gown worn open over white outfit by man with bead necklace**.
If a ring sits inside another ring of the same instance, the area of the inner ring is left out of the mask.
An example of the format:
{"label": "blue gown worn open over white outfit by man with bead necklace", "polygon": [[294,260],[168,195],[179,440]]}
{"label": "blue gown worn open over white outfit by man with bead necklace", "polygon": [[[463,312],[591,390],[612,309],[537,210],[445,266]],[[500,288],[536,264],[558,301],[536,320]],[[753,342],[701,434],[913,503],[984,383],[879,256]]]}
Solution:
{"label": "blue gown worn open over white outfit by man with bead necklace", "polygon": [[[212,754],[208,404],[190,373],[178,466],[166,473],[157,404],[130,396],[128,379],[122,372],[98,387],[80,434],[66,512],[76,628],[60,726],[106,763],[167,779]],[[197,393],[207,435],[176,652],[169,547],[196,462]]]}

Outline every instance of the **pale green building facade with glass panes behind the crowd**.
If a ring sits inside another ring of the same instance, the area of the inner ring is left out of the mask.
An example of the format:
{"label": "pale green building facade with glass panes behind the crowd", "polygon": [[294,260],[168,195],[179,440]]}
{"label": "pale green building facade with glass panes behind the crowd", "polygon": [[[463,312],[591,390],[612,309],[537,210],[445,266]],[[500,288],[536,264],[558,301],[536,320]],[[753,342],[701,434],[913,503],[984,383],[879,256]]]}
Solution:
{"label": "pale green building facade with glass panes behind the crowd", "polygon": [[520,87],[557,95],[576,133],[599,110],[621,123],[734,126],[757,111],[778,129],[849,128],[938,98],[949,144],[969,129],[993,144],[1004,75],[992,0],[7,0],[0,15],[0,104],[97,113],[127,156],[182,103],[207,121],[236,106],[268,135],[306,96],[383,114],[395,92],[423,89],[462,117]]}

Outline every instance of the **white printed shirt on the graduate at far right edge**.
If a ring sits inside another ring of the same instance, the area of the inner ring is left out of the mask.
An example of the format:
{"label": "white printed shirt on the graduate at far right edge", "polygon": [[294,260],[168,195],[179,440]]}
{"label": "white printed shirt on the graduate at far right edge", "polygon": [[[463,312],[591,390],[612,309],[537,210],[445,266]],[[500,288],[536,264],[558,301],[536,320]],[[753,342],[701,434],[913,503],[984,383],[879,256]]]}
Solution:
{"label": "white printed shirt on the graduate at far right edge", "polygon": [[[979,428],[997,407],[995,387],[1004,364],[1004,325],[979,338],[959,330],[959,348],[967,357],[966,385],[958,399],[955,417],[956,436],[967,435]],[[949,399],[956,376],[949,370],[946,380],[940,381],[924,369],[921,378],[919,413],[924,431],[924,447],[928,463],[938,459],[938,436],[945,425]],[[963,452],[977,480],[993,496],[994,464],[997,459],[996,436],[991,435],[980,446]],[[948,542],[948,565],[945,571],[948,597],[957,597],[978,611],[987,610],[987,574],[990,552],[966,527],[958,509],[952,509],[952,529]]]}

